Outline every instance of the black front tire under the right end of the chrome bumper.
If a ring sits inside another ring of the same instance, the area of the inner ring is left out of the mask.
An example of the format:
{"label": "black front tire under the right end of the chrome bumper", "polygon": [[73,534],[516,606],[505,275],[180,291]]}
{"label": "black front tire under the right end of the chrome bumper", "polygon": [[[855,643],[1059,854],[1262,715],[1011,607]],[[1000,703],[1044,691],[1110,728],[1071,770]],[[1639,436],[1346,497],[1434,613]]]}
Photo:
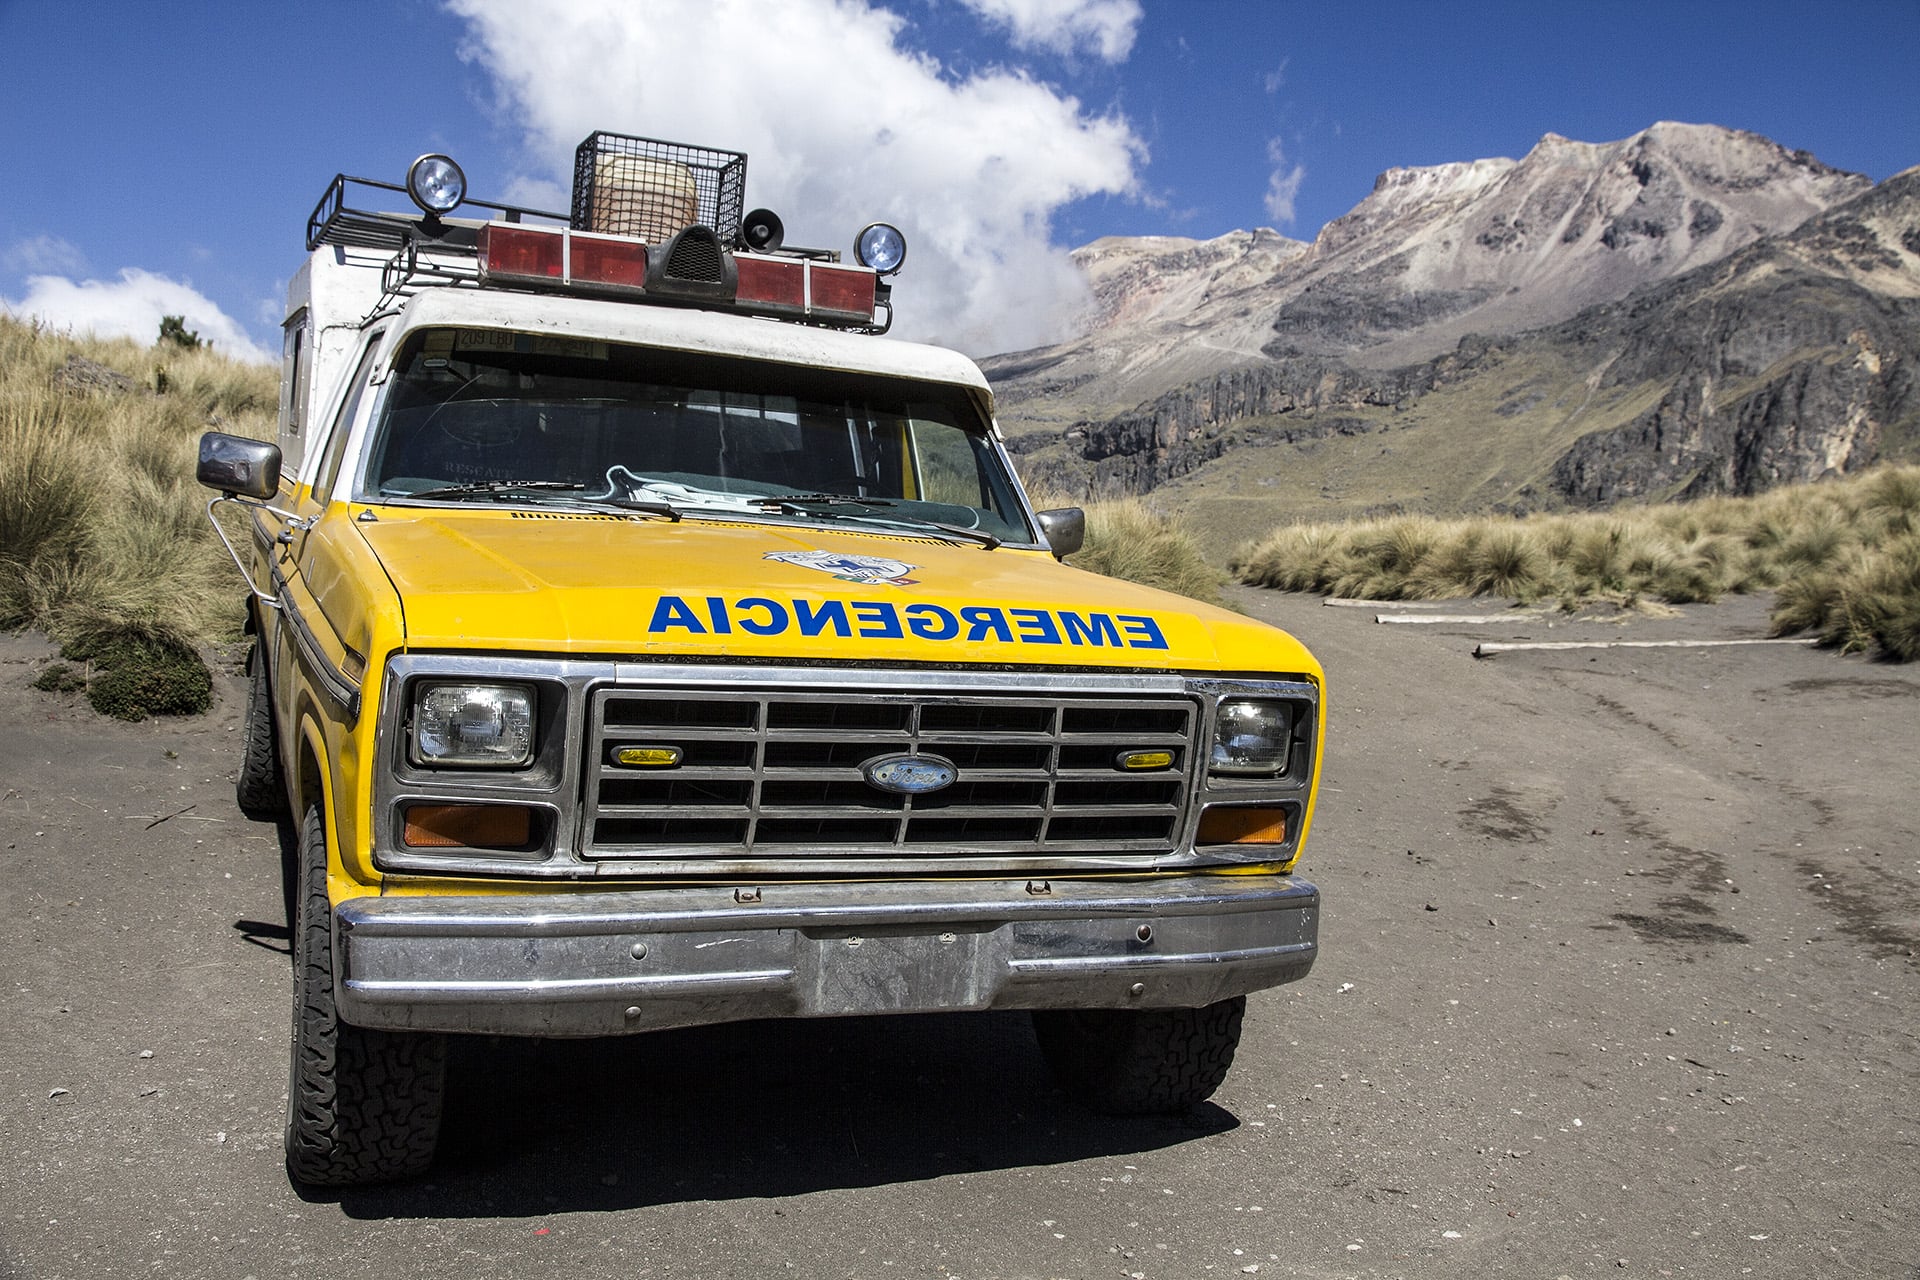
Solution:
{"label": "black front tire under the right end of the chrome bumper", "polygon": [[1246,996],[1202,1009],[1035,1009],[1041,1054],[1073,1098],[1110,1115],[1206,1102],[1240,1044]]}

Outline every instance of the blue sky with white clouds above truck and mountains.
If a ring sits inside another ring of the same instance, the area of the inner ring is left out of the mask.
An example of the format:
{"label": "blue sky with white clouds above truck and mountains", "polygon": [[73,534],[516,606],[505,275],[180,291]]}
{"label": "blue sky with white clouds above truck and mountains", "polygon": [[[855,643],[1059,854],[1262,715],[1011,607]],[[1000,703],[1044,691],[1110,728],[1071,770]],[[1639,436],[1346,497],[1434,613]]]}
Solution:
{"label": "blue sky with white clouds above truck and mountains", "polygon": [[1064,249],[1309,240],[1402,165],[1659,119],[1920,163],[1920,0],[0,0],[0,303],[267,351],[334,173],[564,207],[612,129],[745,150],[789,240],[912,244],[897,332],[1064,334]]}

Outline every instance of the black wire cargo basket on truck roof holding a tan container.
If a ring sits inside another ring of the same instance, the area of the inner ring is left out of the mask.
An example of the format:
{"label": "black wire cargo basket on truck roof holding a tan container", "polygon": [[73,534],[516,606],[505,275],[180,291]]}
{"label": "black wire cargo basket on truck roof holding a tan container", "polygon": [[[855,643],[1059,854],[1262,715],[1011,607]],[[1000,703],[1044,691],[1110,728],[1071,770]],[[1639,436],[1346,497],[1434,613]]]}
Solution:
{"label": "black wire cargo basket on truck roof holding a tan container", "polygon": [[733,244],[745,200],[743,152],[618,132],[589,134],[574,152],[574,230],[660,244],[701,223]]}

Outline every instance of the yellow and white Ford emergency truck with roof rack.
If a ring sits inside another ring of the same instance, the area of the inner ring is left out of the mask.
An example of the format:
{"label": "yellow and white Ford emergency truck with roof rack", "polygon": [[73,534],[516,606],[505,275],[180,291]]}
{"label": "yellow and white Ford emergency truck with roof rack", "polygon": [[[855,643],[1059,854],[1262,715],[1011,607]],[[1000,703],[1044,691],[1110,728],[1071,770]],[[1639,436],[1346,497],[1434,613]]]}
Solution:
{"label": "yellow and white Ford emergency truck with roof rack", "polygon": [[622,134],[568,213],[342,175],[278,439],[202,441],[238,798],[300,833],[298,1182],[424,1169],[447,1034],[1029,1009],[1171,1111],[1313,963],[1319,664],[1064,564],[979,368],[883,336],[900,232],[789,248],[743,184]]}

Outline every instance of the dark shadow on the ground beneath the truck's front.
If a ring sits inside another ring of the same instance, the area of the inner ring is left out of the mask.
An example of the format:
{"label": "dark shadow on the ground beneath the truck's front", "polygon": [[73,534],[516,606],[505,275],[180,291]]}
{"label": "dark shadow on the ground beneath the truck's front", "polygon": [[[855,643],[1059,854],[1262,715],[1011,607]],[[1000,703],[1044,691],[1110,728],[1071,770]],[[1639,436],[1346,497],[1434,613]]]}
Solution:
{"label": "dark shadow on the ground beneath the truck's front", "polygon": [[434,1169],[303,1197],[353,1219],[780,1199],[1123,1157],[1236,1126],[1212,1103],[1148,1119],[1079,1107],[1054,1088],[1025,1013],[461,1036]]}

